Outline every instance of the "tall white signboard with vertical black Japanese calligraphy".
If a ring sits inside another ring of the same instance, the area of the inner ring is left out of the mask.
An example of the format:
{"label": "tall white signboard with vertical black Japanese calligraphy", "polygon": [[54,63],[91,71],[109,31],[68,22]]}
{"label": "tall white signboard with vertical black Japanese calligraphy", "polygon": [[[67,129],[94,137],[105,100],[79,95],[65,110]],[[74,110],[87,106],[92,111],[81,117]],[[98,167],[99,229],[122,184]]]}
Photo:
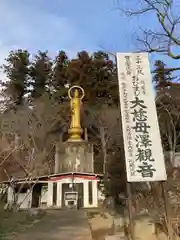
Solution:
{"label": "tall white signboard with vertical black Japanese calligraphy", "polygon": [[128,182],[167,179],[147,53],[118,53]]}

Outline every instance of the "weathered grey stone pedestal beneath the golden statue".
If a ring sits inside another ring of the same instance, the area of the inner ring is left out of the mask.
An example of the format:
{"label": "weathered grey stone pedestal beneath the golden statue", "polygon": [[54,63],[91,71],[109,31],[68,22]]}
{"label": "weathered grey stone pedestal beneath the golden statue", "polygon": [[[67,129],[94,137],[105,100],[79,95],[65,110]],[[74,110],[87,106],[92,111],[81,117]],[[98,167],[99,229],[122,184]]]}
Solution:
{"label": "weathered grey stone pedestal beneath the golden statue", "polygon": [[87,141],[65,142],[55,158],[55,173],[61,172],[93,173],[93,145]]}

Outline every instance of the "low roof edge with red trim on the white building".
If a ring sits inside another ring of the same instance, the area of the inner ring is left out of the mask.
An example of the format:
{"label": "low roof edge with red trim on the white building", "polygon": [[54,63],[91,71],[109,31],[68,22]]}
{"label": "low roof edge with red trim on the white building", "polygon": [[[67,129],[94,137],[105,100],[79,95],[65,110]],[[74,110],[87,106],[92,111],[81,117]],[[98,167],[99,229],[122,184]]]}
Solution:
{"label": "low roof edge with red trim on the white building", "polygon": [[10,182],[19,183],[19,182],[38,182],[38,181],[47,181],[48,178],[59,177],[59,176],[68,176],[68,175],[79,175],[79,176],[95,176],[95,177],[103,177],[103,174],[95,174],[95,173],[82,173],[82,172],[66,172],[66,173],[56,173],[50,175],[43,175],[37,177],[29,177],[29,178],[19,178],[19,179],[11,179],[8,181],[2,181],[0,184],[9,184]]}

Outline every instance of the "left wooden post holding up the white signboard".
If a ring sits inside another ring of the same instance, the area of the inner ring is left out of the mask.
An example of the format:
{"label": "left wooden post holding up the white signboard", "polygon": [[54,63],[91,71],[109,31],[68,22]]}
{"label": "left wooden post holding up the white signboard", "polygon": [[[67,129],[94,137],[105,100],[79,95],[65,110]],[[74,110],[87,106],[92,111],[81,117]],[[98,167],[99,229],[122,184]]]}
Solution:
{"label": "left wooden post holding up the white signboard", "polygon": [[131,183],[127,182],[127,200],[128,200],[128,214],[129,214],[129,227],[130,227],[130,237],[131,240],[135,240],[134,234],[134,219],[132,211],[132,193],[131,193]]}

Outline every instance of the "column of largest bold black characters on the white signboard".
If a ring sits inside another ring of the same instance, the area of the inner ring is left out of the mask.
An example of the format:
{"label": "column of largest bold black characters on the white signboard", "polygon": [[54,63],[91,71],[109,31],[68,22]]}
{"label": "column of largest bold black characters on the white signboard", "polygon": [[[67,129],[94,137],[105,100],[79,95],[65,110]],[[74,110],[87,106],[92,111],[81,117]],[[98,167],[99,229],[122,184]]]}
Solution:
{"label": "column of largest bold black characters on the white signboard", "polygon": [[150,139],[150,125],[147,122],[147,106],[144,100],[135,95],[135,99],[130,101],[131,114],[133,115],[134,125],[132,129],[135,131],[136,140],[136,161],[138,165],[138,173],[141,173],[143,178],[152,178],[156,169],[153,167],[155,161],[152,156],[152,141]]}

